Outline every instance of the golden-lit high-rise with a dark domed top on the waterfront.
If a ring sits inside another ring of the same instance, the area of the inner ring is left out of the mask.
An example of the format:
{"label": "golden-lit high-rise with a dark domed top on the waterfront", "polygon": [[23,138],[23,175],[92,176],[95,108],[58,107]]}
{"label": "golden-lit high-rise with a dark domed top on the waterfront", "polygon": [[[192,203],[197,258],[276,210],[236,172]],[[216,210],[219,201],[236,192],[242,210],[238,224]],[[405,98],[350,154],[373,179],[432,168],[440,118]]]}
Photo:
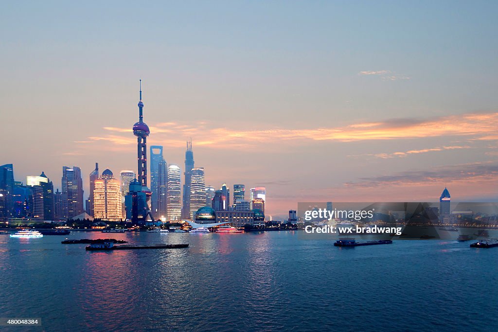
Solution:
{"label": "golden-lit high-rise with a dark domed top on the waterfront", "polygon": [[109,221],[123,219],[120,182],[114,178],[113,172],[109,169],[102,172],[100,179],[95,180],[94,213],[96,219]]}

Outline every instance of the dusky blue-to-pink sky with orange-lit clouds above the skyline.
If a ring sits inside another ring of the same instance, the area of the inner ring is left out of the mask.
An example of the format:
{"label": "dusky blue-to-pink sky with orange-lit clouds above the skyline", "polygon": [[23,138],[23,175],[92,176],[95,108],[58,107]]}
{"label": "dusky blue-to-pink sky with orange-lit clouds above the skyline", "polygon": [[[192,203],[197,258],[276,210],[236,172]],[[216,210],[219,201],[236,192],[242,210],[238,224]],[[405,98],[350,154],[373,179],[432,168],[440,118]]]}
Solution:
{"label": "dusky blue-to-pink sky with orange-lit clouds above the skyline", "polygon": [[[297,202],[498,199],[496,1],[10,1],[0,164],[136,171],[149,145],[206,185]],[[183,180],[183,177],[182,177]]]}

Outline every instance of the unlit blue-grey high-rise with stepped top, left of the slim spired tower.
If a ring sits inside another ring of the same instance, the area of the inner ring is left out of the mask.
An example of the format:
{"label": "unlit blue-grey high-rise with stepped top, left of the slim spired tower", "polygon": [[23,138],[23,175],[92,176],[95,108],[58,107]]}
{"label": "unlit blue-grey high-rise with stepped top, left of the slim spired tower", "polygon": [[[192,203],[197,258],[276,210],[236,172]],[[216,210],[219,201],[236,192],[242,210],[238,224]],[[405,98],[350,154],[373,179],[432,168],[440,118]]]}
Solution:
{"label": "unlit blue-grey high-rise with stepped top, left of the slim spired tower", "polygon": [[73,218],[83,212],[83,180],[81,169],[73,166],[62,167],[62,213],[65,218]]}

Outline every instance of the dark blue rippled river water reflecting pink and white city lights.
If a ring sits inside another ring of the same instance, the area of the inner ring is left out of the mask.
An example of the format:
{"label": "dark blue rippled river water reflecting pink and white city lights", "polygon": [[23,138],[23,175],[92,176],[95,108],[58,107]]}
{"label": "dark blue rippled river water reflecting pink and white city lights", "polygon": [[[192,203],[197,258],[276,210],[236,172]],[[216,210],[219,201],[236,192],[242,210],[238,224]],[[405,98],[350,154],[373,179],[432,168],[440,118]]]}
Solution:
{"label": "dark blue rippled river water reflecting pink and white city lights", "polygon": [[[0,235],[8,331],[496,331],[498,248],[394,241],[356,248],[294,231],[71,232],[187,249],[88,252],[64,236]],[[7,329],[2,328],[0,329]]]}

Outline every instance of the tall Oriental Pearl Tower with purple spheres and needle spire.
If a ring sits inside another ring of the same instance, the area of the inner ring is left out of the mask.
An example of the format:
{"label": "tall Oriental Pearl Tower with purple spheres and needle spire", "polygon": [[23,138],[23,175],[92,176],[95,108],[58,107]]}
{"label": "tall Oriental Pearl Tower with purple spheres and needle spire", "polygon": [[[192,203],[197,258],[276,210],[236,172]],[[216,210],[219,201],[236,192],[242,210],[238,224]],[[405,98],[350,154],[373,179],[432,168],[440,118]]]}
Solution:
{"label": "tall Oriental Pearl Tower with purple spheres and needle spire", "polygon": [[[137,142],[137,160],[138,160],[138,182],[142,186],[142,192],[147,197],[147,215],[152,218],[149,209],[150,189],[147,187],[147,136],[149,135],[149,126],[143,122],[143,103],[142,103],[142,80],[140,80],[140,101],[138,102],[138,122],[133,124],[133,134]],[[145,219],[147,218],[145,215]]]}

